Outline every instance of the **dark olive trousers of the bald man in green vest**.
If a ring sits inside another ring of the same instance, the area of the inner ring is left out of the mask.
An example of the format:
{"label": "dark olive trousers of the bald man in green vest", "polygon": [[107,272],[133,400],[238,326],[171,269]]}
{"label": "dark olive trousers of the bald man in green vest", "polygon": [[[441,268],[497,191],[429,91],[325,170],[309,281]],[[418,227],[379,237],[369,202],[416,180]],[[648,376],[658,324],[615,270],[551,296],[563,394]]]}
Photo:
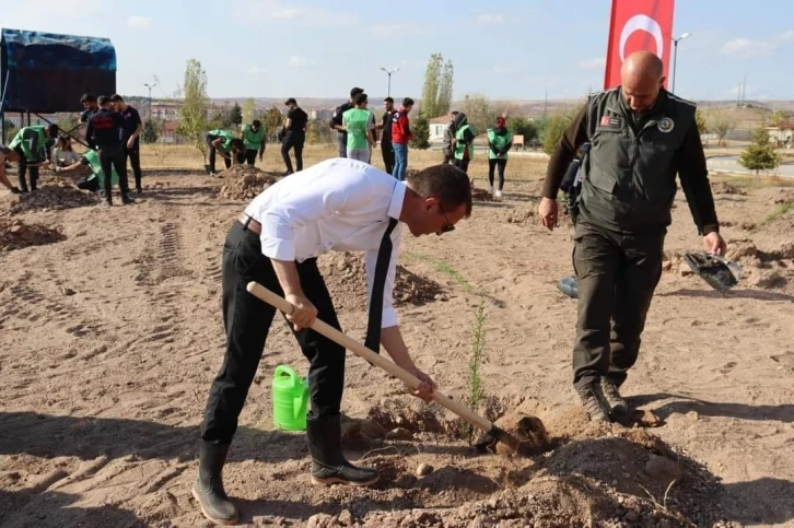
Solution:
{"label": "dark olive trousers of the bald man in green vest", "polygon": [[579,289],[573,383],[607,377],[620,386],[640,352],[645,316],[662,277],[665,231],[622,235],[576,223],[573,270]]}

